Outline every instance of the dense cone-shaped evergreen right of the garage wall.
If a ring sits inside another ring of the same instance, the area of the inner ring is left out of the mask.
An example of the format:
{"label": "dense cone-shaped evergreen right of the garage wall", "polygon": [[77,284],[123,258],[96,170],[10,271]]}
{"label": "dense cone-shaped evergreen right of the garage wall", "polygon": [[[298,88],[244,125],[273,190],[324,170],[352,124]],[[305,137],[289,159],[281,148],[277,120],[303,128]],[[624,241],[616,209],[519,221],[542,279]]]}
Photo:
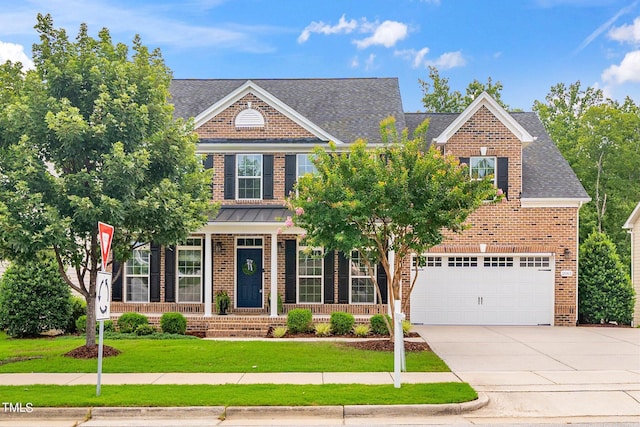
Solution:
{"label": "dense cone-shaped evergreen right of the garage wall", "polygon": [[616,247],[593,232],[580,246],[578,310],[582,323],[630,324],[634,290]]}

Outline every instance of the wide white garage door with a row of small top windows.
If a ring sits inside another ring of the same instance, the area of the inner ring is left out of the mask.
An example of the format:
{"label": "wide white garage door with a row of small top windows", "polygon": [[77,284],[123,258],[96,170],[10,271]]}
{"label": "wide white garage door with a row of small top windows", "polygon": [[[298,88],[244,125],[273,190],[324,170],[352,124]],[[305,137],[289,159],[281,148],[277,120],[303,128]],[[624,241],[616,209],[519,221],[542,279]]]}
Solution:
{"label": "wide white garage door with a row of small top windows", "polygon": [[416,268],[412,323],[553,324],[553,257],[429,255],[414,258]]}

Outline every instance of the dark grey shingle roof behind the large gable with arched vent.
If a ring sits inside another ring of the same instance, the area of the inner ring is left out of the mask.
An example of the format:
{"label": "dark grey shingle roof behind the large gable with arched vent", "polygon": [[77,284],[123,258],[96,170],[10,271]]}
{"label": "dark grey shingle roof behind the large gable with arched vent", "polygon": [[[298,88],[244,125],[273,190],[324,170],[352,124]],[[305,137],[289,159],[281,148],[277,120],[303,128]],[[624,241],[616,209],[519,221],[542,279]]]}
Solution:
{"label": "dark grey shingle roof behind the large gable with arched vent", "polygon": [[[173,80],[174,114],[195,117],[247,80]],[[381,142],[379,124],[388,116],[398,129],[406,126],[397,78],[251,81],[342,142]]]}

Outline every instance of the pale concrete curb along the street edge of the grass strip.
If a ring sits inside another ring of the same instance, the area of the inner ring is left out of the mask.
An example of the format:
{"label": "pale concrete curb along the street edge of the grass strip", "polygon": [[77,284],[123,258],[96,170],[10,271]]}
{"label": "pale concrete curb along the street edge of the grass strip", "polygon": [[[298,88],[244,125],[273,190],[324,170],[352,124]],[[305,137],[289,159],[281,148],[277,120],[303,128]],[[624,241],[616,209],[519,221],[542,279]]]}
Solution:
{"label": "pale concrete curb along the street edge of the grass strip", "polygon": [[489,403],[485,393],[464,403],[435,405],[336,405],[336,406],[184,406],[184,407],[96,407],[96,408],[34,408],[30,413],[4,413],[2,419],[59,419],[77,420],[145,418],[219,418],[232,420],[259,420],[283,418],[375,418],[424,417],[433,415],[460,415],[478,410]]}

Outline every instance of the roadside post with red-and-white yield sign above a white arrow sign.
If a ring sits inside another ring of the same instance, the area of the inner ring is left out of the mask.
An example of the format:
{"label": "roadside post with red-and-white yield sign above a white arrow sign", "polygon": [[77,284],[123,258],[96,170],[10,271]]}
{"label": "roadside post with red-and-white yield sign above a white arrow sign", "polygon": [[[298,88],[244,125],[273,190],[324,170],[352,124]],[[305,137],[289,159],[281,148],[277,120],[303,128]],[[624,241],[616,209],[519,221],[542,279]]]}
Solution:
{"label": "roadside post with red-and-white yield sign above a white arrow sign", "polygon": [[100,240],[100,252],[102,254],[102,268],[96,278],[96,320],[100,322],[98,336],[98,382],[96,384],[96,396],[100,396],[100,384],[102,382],[102,351],[104,341],[104,321],[111,317],[111,273],[106,271],[111,240],[113,239],[113,226],[103,222],[98,223],[98,240]]}

